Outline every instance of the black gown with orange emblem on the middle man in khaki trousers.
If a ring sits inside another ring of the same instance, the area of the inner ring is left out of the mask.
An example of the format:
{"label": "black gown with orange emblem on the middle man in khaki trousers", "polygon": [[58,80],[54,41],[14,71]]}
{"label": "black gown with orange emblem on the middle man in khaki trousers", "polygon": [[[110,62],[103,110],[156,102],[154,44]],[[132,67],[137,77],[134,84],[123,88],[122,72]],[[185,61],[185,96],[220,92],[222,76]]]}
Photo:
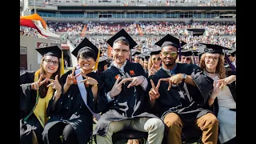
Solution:
{"label": "black gown with orange emblem on the middle man in khaki trousers", "polygon": [[[145,71],[139,63],[126,62],[124,71],[130,77],[145,75]],[[112,90],[116,76],[122,73],[115,67],[110,66],[101,76],[102,89],[100,96],[106,98],[106,93]],[[122,80],[120,80],[121,82]],[[150,114],[149,97],[146,91],[142,90],[142,86],[127,86],[130,82],[122,84],[122,91],[114,97],[114,100],[107,104],[106,110],[99,119],[94,134],[106,136],[107,127],[112,121],[121,121],[129,118],[158,118],[154,114]]]}

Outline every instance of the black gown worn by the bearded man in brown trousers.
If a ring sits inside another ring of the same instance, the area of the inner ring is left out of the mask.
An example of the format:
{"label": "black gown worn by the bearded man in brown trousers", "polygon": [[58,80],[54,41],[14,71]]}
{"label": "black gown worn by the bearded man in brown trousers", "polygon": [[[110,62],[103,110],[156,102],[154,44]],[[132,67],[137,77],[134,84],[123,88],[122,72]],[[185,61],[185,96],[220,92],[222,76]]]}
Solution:
{"label": "black gown worn by the bearded man in brown trousers", "polygon": [[[175,74],[190,75],[197,86],[181,82],[178,86],[172,86],[168,91],[169,82],[161,82],[161,86],[158,89],[160,97],[153,107],[154,114],[163,120],[166,114],[174,112],[182,118],[182,122],[192,126],[191,124],[194,124],[196,118],[200,118],[210,112],[210,110],[203,109],[203,106],[210,96],[213,81],[203,74],[199,66],[193,64],[177,63]],[[157,86],[160,78],[170,78],[170,75],[161,68],[156,74],[151,75],[149,79],[153,79],[155,86]],[[186,87],[188,91],[186,91]],[[151,84],[149,84],[148,88],[150,90]]]}

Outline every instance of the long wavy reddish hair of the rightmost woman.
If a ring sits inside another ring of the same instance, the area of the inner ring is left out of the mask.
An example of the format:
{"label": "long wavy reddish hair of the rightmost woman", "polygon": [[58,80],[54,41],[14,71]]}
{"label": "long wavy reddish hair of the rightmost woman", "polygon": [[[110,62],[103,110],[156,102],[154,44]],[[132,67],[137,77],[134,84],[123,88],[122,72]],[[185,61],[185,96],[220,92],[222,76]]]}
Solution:
{"label": "long wavy reddish hair of the rightmost woman", "polygon": [[[206,54],[202,54],[202,57],[200,59],[199,66],[202,70],[206,70]],[[218,64],[216,66],[215,74],[218,74],[218,78],[223,79],[226,78],[226,69],[224,67],[224,55],[220,54],[218,58]]]}

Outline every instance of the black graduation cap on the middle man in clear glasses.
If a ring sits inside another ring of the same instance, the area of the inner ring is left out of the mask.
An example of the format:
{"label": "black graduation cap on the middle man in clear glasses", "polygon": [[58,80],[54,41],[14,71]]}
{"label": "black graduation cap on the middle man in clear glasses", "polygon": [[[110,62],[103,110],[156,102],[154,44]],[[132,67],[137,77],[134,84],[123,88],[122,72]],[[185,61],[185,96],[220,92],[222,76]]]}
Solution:
{"label": "black graduation cap on the middle man in clear glasses", "polygon": [[110,39],[108,39],[106,42],[113,47],[114,42],[126,42],[129,45],[130,49],[133,49],[134,46],[137,46],[138,44],[134,41],[133,38],[130,37],[130,35],[126,32],[126,30],[122,29],[119,30],[118,33],[114,34]]}

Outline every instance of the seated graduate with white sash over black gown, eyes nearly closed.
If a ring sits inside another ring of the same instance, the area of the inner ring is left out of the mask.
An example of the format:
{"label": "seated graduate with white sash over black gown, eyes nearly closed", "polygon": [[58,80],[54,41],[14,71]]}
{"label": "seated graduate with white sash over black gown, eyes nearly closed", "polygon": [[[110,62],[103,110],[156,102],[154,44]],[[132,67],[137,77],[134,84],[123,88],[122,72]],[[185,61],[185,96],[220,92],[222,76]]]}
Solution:
{"label": "seated graduate with white sash over black gown, eyes nearly closed", "polygon": [[79,69],[62,75],[62,95],[55,100],[57,102],[54,103],[54,99],[50,101],[47,108],[50,119],[42,133],[45,144],[87,143],[93,129],[93,114],[99,118],[100,79],[93,71],[98,64],[99,50],[84,38],[72,54],[78,59]]}

